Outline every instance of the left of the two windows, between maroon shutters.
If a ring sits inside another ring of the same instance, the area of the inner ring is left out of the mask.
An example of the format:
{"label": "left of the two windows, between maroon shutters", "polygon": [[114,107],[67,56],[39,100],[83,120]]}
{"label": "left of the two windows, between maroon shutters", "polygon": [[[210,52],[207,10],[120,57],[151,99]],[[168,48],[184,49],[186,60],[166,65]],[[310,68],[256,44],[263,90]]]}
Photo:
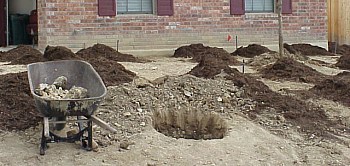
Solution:
{"label": "left of the two windows, between maroon shutters", "polygon": [[152,14],[153,0],[117,0],[118,14]]}

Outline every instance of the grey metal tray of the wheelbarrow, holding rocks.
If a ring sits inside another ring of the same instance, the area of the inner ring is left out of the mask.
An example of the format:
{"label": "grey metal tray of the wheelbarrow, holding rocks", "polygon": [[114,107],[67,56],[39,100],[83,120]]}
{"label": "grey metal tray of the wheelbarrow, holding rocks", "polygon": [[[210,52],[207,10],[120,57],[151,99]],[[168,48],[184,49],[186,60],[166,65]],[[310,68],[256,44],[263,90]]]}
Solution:
{"label": "grey metal tray of the wheelbarrow, holding rocks", "polygon": [[[68,89],[73,85],[87,89],[88,98],[52,100],[34,92],[39,84],[52,84],[59,76],[67,77]],[[44,117],[90,116],[97,110],[107,93],[102,79],[94,68],[89,63],[79,60],[29,64],[28,79],[37,110]]]}

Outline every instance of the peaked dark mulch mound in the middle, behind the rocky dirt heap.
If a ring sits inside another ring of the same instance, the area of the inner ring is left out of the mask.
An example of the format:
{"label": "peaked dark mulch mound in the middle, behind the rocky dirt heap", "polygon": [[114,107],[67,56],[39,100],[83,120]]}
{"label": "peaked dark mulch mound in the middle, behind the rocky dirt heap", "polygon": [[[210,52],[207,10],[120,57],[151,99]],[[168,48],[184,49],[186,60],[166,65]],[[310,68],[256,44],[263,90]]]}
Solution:
{"label": "peaked dark mulch mound in the middle, behind the rocky dirt heap", "polygon": [[188,74],[200,78],[214,78],[222,71],[232,73],[232,68],[225,64],[222,60],[214,57],[204,57]]}

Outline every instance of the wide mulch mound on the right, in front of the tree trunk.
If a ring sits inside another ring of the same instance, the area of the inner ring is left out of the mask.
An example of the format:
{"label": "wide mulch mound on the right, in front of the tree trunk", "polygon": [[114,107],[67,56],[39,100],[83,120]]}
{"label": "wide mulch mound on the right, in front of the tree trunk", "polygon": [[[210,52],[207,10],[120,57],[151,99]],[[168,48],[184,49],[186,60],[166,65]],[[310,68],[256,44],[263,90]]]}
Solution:
{"label": "wide mulch mound on the right, in front of the tree trunk", "polygon": [[263,78],[271,80],[305,83],[317,83],[325,78],[325,75],[315,69],[288,57],[278,59],[274,64],[261,69],[260,73]]}

